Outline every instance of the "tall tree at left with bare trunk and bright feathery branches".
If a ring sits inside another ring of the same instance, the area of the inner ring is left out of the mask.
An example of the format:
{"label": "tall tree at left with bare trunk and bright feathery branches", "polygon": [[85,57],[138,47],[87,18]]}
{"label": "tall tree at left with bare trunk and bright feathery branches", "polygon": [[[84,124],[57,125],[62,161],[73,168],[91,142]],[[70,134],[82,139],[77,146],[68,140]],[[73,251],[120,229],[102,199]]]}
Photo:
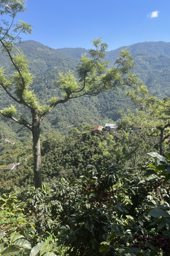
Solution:
{"label": "tall tree at left with bare trunk and bright feathery branches", "polygon": [[[41,181],[41,160],[40,160],[40,123],[50,111],[58,104],[65,103],[69,99],[75,99],[84,95],[97,96],[99,93],[116,89],[121,86],[132,86],[137,82],[135,75],[130,71],[133,69],[133,58],[127,49],[119,52],[119,58],[115,61],[115,67],[109,69],[108,61],[102,61],[105,57],[105,51],[108,48],[102,38],[92,41],[94,49],[90,49],[91,58],[82,55],[77,67],[78,79],[71,72],[59,74],[57,86],[62,91],[62,99],[53,97],[49,99],[48,105],[42,106],[38,102],[37,96],[31,90],[33,76],[28,70],[28,61],[23,52],[14,49],[13,43],[21,41],[20,33],[31,34],[32,26],[19,20],[14,23],[18,13],[26,11],[25,0],[1,0],[0,14],[8,15],[9,21],[3,20],[3,26],[0,26],[0,43],[2,50],[8,53],[14,73],[9,79],[6,79],[3,68],[0,69],[0,85],[3,90],[18,104],[25,105],[31,111],[32,121],[28,122],[24,116],[14,117],[17,109],[11,105],[0,111],[3,118],[12,119],[14,122],[24,125],[31,130],[34,149],[34,184],[36,188],[42,187]],[[14,93],[11,92],[14,91]]]}

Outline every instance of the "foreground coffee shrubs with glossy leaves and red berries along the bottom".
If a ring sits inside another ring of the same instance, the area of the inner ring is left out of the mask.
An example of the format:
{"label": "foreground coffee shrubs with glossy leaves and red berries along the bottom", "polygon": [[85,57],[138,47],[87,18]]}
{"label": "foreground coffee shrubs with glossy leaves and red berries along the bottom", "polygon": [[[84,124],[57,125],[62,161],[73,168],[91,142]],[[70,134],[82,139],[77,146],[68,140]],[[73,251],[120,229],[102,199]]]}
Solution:
{"label": "foreground coffee shrubs with glossy leaves and red berries along the bottom", "polygon": [[149,156],[137,169],[96,163],[42,190],[1,189],[1,254],[168,254],[170,153]]}

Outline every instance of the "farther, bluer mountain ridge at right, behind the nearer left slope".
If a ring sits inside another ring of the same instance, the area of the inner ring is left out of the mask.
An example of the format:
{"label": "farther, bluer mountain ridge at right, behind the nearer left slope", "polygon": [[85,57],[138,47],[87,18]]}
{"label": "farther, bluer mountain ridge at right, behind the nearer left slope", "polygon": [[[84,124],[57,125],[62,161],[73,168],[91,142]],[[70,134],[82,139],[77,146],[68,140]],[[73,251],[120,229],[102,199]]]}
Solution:
{"label": "farther, bluer mountain ridge at right, behind the nearer left slope", "polygon": [[[168,42],[143,42],[130,46],[119,47],[118,49],[106,52],[106,59],[114,64],[118,52],[122,48],[128,47],[133,56],[136,67],[134,72],[139,79],[144,81],[147,87],[156,96],[169,96],[170,86],[170,43]],[[88,49],[85,48],[61,48],[56,49],[65,55],[77,60],[86,53],[89,57]],[[159,92],[161,90],[161,93]],[[161,94],[161,95],[160,95]]]}

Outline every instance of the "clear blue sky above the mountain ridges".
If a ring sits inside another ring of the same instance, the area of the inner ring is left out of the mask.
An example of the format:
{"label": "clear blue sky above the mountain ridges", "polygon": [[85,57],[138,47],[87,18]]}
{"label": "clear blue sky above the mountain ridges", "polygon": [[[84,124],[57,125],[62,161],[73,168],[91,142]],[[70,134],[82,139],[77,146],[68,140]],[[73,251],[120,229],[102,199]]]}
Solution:
{"label": "clear blue sky above the mountain ridges", "polygon": [[27,0],[26,6],[28,12],[20,17],[34,29],[23,40],[54,49],[89,49],[99,36],[109,50],[145,41],[170,42],[170,0]]}

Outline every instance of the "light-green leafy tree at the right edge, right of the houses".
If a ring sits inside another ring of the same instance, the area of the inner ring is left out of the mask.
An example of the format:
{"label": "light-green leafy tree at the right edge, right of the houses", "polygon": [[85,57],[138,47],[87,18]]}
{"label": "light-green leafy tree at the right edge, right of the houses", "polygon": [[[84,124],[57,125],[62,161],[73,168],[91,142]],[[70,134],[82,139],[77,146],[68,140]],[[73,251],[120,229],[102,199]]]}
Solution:
{"label": "light-green leafy tree at the right edge, right of the houses", "polygon": [[138,125],[150,128],[148,134],[159,136],[159,154],[163,156],[163,143],[170,136],[170,98],[157,99],[141,81],[134,84],[126,94],[136,105],[140,105],[135,117]]}

